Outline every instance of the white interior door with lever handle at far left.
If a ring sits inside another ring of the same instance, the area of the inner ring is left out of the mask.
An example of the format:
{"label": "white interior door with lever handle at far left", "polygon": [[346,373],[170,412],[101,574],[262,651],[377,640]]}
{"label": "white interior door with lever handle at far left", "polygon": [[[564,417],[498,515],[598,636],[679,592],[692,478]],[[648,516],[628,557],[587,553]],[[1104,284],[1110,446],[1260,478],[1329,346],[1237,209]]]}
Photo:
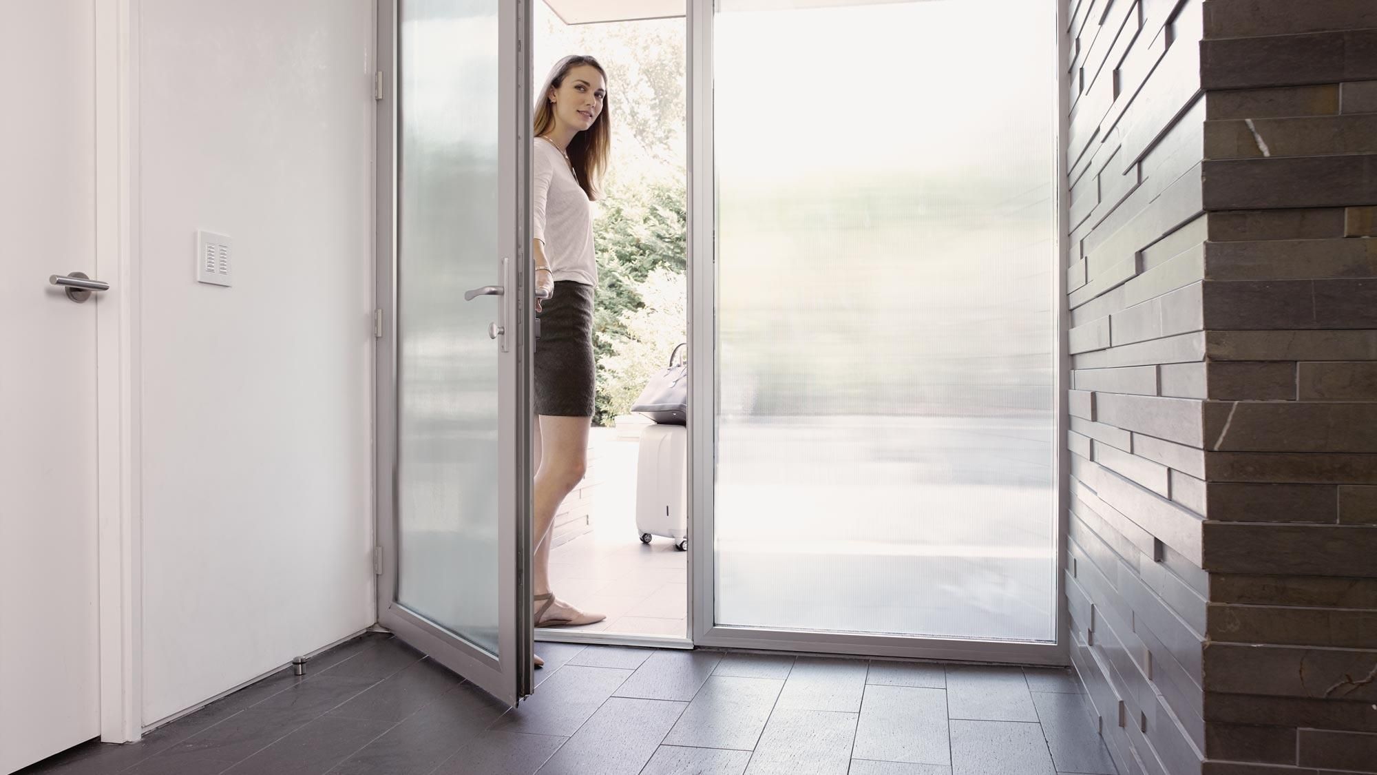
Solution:
{"label": "white interior door with lever handle at far left", "polygon": [[99,725],[94,4],[0,4],[0,772]]}

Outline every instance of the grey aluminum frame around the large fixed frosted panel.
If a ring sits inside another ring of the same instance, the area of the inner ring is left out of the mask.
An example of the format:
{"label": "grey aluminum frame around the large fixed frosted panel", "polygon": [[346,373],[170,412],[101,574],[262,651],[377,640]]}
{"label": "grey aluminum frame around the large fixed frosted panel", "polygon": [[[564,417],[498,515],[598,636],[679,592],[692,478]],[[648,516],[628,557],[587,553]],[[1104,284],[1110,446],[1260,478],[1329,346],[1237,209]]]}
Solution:
{"label": "grey aluminum frame around the large fixed frosted panel", "polygon": [[[1042,0],[1053,1],[1053,0]],[[1056,524],[1055,563],[1055,640],[1026,643],[979,638],[942,638],[921,636],[883,636],[866,633],[830,633],[817,630],[786,630],[774,627],[722,626],[716,623],[716,553],[715,495],[716,495],[716,298],[717,298],[717,178],[713,161],[713,18],[716,0],[687,0],[688,30],[688,519],[690,550],[690,611],[688,626],[693,641],[700,647],[792,651],[807,654],[847,654],[862,656],[890,656],[905,659],[943,659],[963,662],[1002,662],[1019,665],[1070,665],[1066,575],[1067,532],[1067,472],[1070,466],[1066,444],[1067,394],[1070,385],[1070,356],[1066,348],[1066,251],[1070,189],[1066,175],[1064,142],[1069,127],[1069,73],[1062,62],[1069,61],[1066,3],[1056,3],[1056,62],[1048,62],[1056,87],[1055,174],[1058,185],[1056,234],[1053,261],[1053,303],[1058,309],[1053,360],[1056,363],[1053,390],[1053,513]],[[1048,85],[1053,85],[1049,83]]]}

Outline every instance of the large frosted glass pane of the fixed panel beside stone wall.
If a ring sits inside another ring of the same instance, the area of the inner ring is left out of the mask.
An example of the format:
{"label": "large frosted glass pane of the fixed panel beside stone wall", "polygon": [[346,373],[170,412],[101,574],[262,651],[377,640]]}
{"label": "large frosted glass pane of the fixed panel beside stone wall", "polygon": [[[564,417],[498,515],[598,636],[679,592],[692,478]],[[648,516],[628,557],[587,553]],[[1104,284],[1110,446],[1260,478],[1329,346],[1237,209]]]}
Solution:
{"label": "large frosted glass pane of the fixed panel beside stone wall", "polygon": [[801,4],[716,17],[716,621],[1053,640],[1055,4]]}

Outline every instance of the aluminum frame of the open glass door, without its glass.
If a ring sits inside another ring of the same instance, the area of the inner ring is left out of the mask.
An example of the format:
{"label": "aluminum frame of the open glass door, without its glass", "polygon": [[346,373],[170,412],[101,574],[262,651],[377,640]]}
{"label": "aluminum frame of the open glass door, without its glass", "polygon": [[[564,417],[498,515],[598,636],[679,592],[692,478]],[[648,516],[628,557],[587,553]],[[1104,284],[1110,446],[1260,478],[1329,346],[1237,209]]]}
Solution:
{"label": "aluminum frame of the open glass door, without its glass", "polygon": [[[376,302],[381,335],[375,339],[375,509],[376,549],[380,561],[377,576],[377,621],[441,665],[468,678],[497,699],[515,706],[534,691],[532,665],[532,480],[530,480],[530,394],[533,352],[533,305],[530,272],[530,3],[538,0],[498,0],[498,113],[500,145],[498,222],[508,225],[500,239],[500,252],[493,256],[493,273],[507,290],[505,320],[509,352],[498,356],[498,422],[505,434],[498,436],[498,455],[507,462],[508,476],[500,474],[498,552],[511,572],[498,579],[498,654],[497,659],[454,636],[443,626],[410,611],[397,600],[398,592],[398,7],[405,0],[377,1],[377,66],[381,72],[377,101],[377,146],[375,167],[376,201]],[[509,261],[504,261],[509,259]],[[459,303],[463,303],[461,301]],[[377,321],[375,321],[375,325]],[[375,331],[376,332],[376,331]],[[497,342],[493,343],[497,348]]]}

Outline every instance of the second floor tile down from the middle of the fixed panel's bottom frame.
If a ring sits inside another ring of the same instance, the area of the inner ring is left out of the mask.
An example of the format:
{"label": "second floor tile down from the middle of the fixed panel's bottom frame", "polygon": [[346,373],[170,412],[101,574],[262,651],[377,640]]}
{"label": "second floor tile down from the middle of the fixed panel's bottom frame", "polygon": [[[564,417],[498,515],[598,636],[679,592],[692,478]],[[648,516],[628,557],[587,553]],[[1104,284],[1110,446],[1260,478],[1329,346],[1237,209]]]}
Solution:
{"label": "second floor tile down from the middle of the fixed panel's bottom frame", "polygon": [[946,692],[868,685],[856,727],[855,758],[950,764]]}

